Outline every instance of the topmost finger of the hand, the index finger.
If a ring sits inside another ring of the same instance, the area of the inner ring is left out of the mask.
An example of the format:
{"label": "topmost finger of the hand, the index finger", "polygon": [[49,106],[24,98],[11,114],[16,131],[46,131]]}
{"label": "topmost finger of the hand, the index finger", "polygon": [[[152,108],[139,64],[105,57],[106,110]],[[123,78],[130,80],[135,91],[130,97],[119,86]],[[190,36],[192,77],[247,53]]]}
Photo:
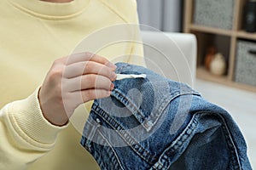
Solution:
{"label": "topmost finger of the hand, the index finger", "polygon": [[82,62],[82,61],[95,61],[97,63],[101,63],[102,65],[111,67],[113,69],[116,68],[116,66],[113,65],[113,63],[111,63],[110,61],[108,61],[108,59],[97,54],[91,54],[89,52],[72,54],[68,56],[66,65],[71,65],[73,63]]}

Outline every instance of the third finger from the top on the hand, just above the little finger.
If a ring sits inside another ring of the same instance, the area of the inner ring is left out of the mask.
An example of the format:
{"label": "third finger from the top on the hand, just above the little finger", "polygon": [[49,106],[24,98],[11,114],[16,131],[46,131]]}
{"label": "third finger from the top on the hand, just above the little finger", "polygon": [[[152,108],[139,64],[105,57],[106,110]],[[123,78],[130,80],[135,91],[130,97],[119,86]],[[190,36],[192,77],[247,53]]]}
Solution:
{"label": "third finger from the top on the hand, just above the little finger", "polygon": [[109,91],[113,89],[113,83],[108,77],[89,74],[82,77],[66,79],[62,82],[62,88],[64,88],[63,90],[66,92],[74,92],[90,88],[102,88]]}

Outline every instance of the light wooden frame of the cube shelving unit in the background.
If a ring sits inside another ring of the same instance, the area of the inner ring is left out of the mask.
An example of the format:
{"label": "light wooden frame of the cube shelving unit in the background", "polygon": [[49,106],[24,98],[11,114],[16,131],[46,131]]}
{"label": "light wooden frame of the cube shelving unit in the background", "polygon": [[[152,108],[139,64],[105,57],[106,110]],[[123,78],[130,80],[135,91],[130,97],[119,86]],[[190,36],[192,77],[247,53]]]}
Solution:
{"label": "light wooden frame of the cube shelving unit in the background", "polygon": [[[222,83],[235,88],[242,88],[249,91],[256,92],[256,87],[249,86],[244,83],[234,81],[235,65],[236,65],[236,42],[238,39],[247,39],[256,41],[256,33],[248,33],[242,29],[243,9],[247,0],[235,0],[233,28],[231,30],[224,30],[209,26],[199,26],[193,22],[194,14],[194,0],[184,0],[184,20],[183,31],[187,33],[194,33],[198,41],[198,56],[197,56],[197,77]],[[206,53],[207,43],[215,41],[215,39],[224,40],[225,48],[224,54],[227,56],[228,71],[224,76],[214,76],[203,66],[204,54]],[[256,65],[255,65],[256,66]],[[255,75],[256,77],[256,75]]]}

